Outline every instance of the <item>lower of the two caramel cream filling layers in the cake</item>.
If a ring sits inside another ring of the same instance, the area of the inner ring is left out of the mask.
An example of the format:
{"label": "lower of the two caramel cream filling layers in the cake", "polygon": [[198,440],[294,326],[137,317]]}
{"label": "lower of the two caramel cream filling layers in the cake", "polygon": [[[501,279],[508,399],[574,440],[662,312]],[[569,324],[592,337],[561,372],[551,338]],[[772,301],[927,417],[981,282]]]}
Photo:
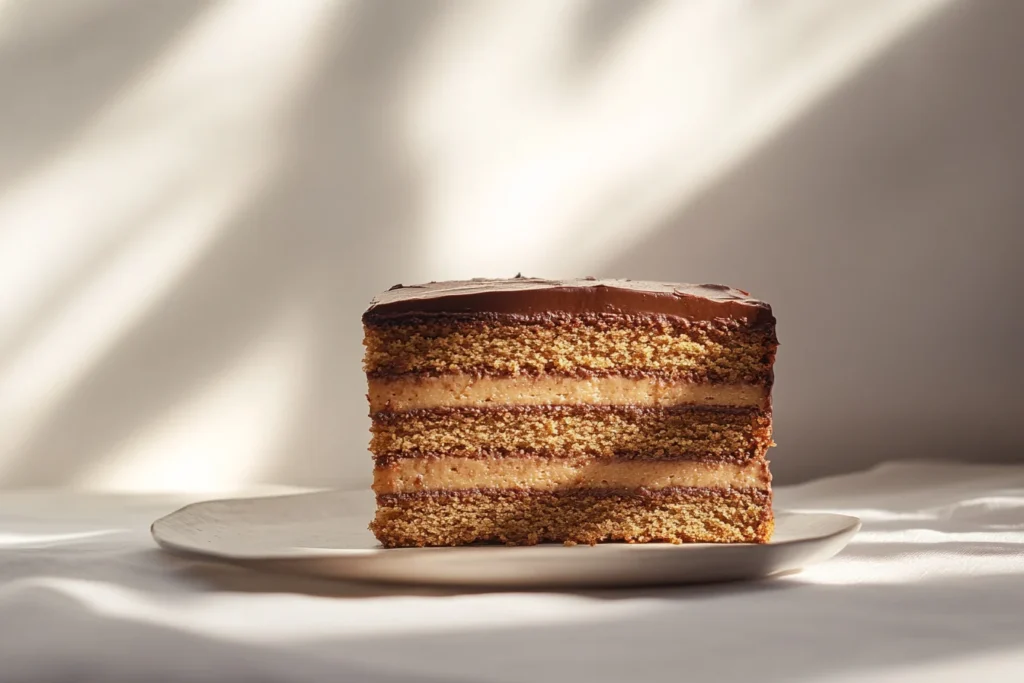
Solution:
{"label": "lower of the two caramel cream filling layers in the cake", "polygon": [[409,458],[374,470],[377,494],[467,488],[668,488],[701,486],[767,489],[768,464],[544,458]]}

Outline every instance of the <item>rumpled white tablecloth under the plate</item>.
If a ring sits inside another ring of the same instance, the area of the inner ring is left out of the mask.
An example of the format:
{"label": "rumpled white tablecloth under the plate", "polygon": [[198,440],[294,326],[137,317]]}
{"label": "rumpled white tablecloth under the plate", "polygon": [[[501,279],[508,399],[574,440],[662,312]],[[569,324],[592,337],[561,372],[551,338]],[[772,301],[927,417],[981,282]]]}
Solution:
{"label": "rumpled white tablecloth under the plate", "polygon": [[836,559],[758,584],[398,590],[158,550],[183,501],[0,495],[0,680],[1024,680],[1024,466],[893,463],[780,488],[855,514]]}

